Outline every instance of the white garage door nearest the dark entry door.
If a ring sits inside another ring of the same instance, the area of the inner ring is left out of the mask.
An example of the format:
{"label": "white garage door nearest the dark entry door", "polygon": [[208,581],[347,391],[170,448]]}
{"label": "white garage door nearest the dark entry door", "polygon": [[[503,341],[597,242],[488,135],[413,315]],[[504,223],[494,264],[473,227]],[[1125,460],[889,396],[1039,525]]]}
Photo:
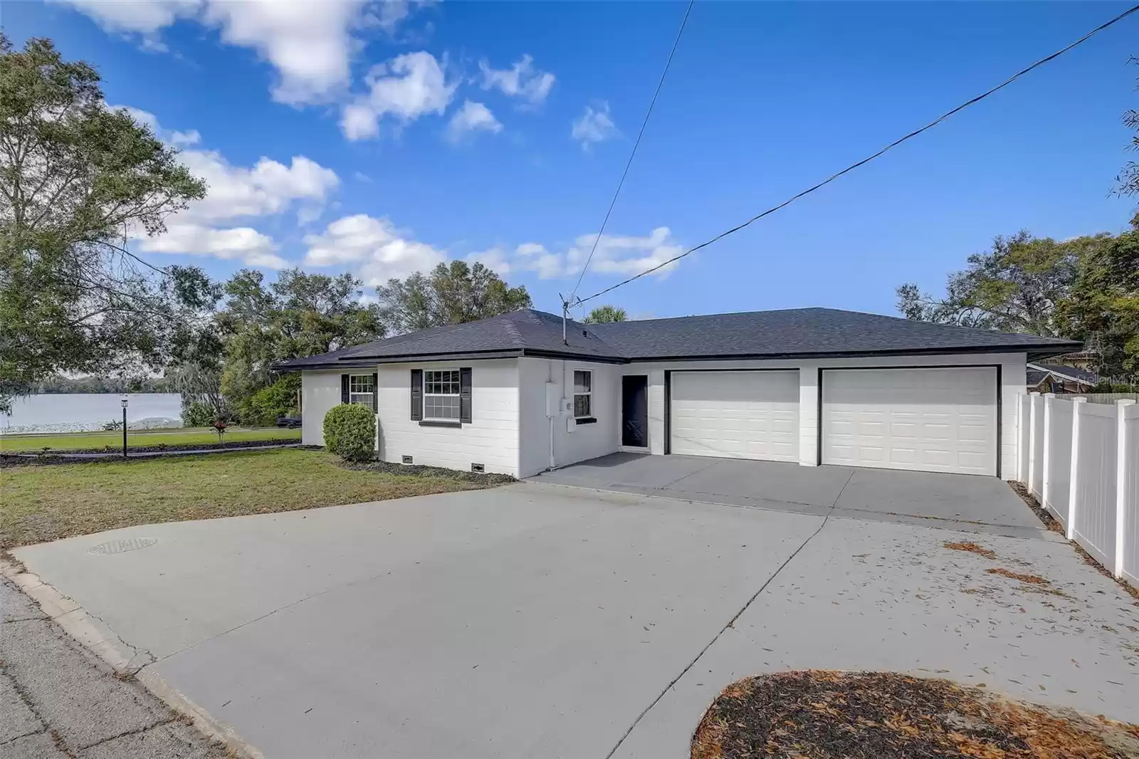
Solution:
{"label": "white garage door nearest the dark entry door", "polygon": [[798,370],[673,372],[673,454],[798,460]]}

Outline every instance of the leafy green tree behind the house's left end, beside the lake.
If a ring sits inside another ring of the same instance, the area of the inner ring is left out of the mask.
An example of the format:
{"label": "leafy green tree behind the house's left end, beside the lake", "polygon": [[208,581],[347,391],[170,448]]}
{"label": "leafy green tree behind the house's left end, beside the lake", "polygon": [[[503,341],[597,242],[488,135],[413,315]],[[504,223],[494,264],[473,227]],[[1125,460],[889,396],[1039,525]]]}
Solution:
{"label": "leafy green tree behind the house's left end, beside the lake", "polygon": [[224,308],[218,313],[224,343],[220,391],[246,422],[288,410],[280,401],[295,391],[297,378],[278,377],[272,364],[384,336],[379,307],[360,302],[362,283],[352,275],[286,269],[267,286],[261,271],[243,269],[224,291]]}

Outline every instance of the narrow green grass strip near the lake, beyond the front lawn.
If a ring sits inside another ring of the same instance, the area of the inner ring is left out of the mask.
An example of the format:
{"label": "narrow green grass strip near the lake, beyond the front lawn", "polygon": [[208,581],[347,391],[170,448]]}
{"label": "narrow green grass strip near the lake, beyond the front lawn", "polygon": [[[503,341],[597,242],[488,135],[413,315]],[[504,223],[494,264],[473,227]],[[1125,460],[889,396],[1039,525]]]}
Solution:
{"label": "narrow green grass strip near the lake, beyond the front lawn", "polygon": [[[301,442],[300,430],[279,430],[277,427],[231,427],[222,436],[224,442],[238,440],[281,440]],[[188,443],[216,443],[218,433],[210,427],[182,427],[179,430],[149,430],[147,432],[126,431],[126,448],[157,446],[185,446]],[[51,450],[101,450],[110,446],[115,450],[123,447],[123,433],[118,432],[73,432],[67,434],[28,434],[0,435],[0,452],[40,451],[44,447]]]}

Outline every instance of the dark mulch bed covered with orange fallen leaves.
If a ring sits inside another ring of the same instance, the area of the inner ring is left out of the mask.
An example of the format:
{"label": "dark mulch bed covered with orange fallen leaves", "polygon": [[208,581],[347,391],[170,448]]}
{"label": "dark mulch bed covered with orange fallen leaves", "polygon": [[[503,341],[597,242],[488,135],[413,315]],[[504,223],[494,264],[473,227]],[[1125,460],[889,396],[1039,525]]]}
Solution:
{"label": "dark mulch bed covered with orange fallen leaves", "polygon": [[1137,759],[1139,726],[893,672],[748,677],[716,697],[693,759]]}

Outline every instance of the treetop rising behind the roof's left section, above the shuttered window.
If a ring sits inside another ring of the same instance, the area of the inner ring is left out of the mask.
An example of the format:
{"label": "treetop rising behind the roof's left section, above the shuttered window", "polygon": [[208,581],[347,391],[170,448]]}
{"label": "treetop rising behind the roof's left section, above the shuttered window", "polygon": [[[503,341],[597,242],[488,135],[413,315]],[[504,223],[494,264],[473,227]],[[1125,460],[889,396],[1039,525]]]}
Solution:
{"label": "treetop rising behind the roof's left section, above the shuttered window", "polygon": [[393,333],[415,332],[446,324],[464,324],[518,309],[528,309],[530,293],[508,286],[482,263],[440,263],[431,274],[388,279],[376,288],[380,316]]}

